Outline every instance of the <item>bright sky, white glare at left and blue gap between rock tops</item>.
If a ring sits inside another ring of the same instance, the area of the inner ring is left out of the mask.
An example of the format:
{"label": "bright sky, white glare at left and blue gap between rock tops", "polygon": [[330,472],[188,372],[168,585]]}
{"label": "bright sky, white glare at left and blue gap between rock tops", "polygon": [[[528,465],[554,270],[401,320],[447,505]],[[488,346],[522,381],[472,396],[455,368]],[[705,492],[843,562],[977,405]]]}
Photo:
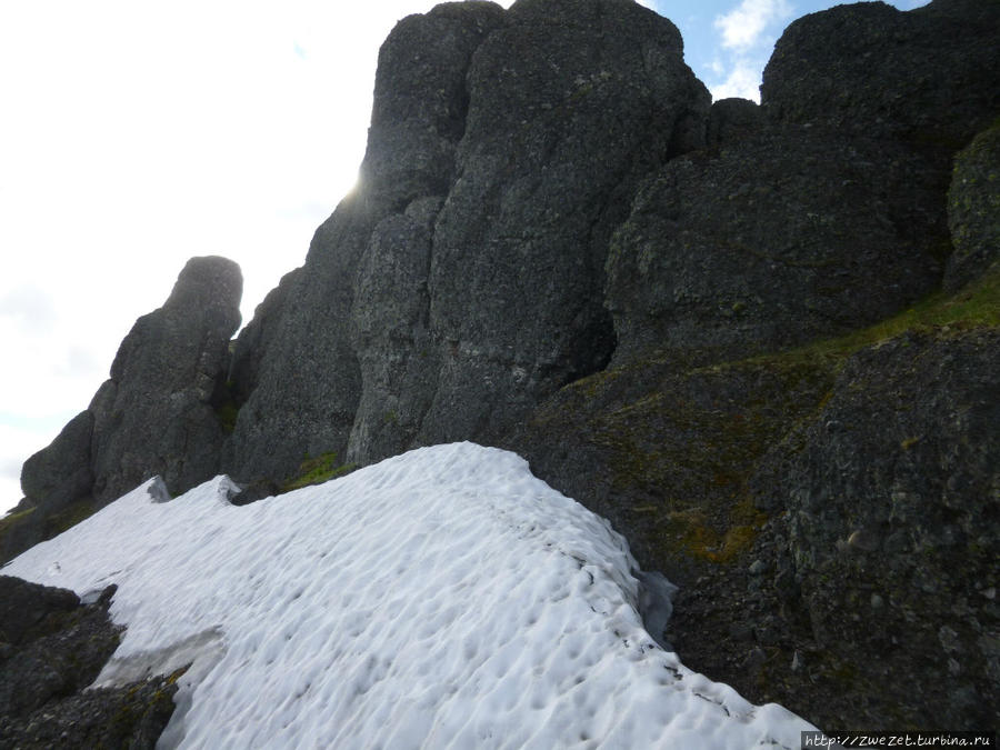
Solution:
{"label": "bright sky, white glare at left and blue gap between rock tops", "polygon": [[[302,263],[354,182],[379,44],[433,4],[0,3],[0,512],[188,258],[240,264],[244,323]],[[717,99],[757,99],[783,28],[834,3],[642,4]]]}

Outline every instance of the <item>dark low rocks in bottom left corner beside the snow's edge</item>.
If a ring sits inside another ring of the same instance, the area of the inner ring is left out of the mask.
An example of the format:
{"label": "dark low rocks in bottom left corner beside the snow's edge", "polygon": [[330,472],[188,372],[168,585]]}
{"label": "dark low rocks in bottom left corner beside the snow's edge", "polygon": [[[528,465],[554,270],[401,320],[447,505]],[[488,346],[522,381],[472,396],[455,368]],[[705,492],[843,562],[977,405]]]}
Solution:
{"label": "dark low rocks in bottom left corner beside the snow's edge", "polygon": [[72,591],[0,576],[0,746],[156,747],[173,713],[171,679],[83,690],[118,648],[113,593],[83,604]]}

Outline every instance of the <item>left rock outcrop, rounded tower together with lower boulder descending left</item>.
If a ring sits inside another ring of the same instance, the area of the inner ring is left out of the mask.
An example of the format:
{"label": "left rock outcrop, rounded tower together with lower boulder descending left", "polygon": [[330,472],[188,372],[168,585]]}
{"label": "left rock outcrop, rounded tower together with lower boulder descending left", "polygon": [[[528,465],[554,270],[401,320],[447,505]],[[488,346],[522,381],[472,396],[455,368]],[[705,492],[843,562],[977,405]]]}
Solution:
{"label": "left rock outcrop, rounded tower together with lower boulder descending left", "polygon": [[163,307],[136,321],[90,407],[24,462],[27,508],[7,558],[62,531],[154,474],[172,492],[219,471],[229,340],[242,277],[224,258],[192,258]]}

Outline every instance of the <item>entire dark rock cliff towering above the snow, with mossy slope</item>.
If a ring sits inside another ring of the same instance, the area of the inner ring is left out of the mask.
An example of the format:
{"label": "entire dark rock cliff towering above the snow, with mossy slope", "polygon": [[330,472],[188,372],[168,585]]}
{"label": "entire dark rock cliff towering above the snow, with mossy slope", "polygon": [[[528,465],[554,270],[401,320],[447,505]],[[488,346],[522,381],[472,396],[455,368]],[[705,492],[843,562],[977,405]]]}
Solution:
{"label": "entire dark rock cliff towering above the snow, with mossy slope", "polygon": [[22,527],[500,444],[681,586],[694,669],[828,727],[996,726],[998,40],[997,2],[841,6],[710,106],[629,0],[407,18],[357,190],[231,367],[236,272],[192,261]]}

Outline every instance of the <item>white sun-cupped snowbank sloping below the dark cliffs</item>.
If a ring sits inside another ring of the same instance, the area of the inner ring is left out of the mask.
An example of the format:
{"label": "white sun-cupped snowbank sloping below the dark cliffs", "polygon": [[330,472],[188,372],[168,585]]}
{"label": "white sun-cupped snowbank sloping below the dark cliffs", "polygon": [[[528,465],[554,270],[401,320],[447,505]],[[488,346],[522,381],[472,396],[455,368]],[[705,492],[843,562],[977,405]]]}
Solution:
{"label": "white sun-cupped snowbank sloping below the dark cliffs", "polygon": [[747,750],[813,729],[660,649],[624,539],[513,453],[423,448],[244,507],[226,477],[152,488],[2,572],[118,584],[98,682],[193,661],[161,744]]}

